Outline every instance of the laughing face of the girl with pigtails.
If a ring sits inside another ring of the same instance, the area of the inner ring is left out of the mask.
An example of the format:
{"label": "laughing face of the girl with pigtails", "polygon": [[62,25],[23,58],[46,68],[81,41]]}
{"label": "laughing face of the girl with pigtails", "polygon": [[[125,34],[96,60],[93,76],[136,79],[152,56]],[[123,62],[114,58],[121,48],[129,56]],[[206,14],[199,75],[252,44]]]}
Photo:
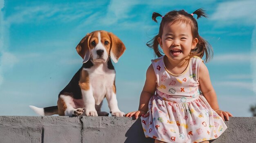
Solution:
{"label": "laughing face of the girl with pigtails", "polygon": [[162,37],[158,38],[158,42],[168,59],[181,62],[195,48],[198,39],[193,39],[191,26],[176,22],[164,25]]}

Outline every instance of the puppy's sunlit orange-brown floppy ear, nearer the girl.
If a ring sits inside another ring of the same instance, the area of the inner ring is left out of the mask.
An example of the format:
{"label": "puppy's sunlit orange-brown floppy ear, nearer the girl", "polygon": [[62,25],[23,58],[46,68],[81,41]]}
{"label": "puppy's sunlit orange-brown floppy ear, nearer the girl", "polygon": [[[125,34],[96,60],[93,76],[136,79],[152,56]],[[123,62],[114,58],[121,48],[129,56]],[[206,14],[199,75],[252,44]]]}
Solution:
{"label": "puppy's sunlit orange-brown floppy ear, nearer the girl", "polygon": [[108,35],[110,36],[110,57],[112,60],[117,63],[120,56],[126,50],[124,43],[113,33],[109,32]]}

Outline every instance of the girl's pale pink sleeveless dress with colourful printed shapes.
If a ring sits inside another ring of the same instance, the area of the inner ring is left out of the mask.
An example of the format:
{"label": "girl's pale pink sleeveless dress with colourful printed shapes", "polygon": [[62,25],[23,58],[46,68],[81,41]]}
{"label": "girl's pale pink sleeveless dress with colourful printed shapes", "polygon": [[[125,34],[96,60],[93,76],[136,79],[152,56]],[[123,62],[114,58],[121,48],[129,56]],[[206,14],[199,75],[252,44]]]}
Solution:
{"label": "girl's pale pink sleeveless dress with colourful printed shapes", "polygon": [[163,57],[151,60],[157,88],[148,104],[149,116],[141,116],[145,136],[167,143],[218,138],[227,126],[200,91],[198,72],[203,60],[191,57],[186,70],[174,75],[166,69]]}

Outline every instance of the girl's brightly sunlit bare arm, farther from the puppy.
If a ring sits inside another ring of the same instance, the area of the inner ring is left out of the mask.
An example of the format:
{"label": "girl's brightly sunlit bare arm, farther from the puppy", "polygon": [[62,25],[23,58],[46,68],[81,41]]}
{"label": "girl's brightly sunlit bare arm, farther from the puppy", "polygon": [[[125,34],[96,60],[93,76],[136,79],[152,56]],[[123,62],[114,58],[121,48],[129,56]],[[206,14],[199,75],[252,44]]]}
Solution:
{"label": "girl's brightly sunlit bare arm, farther from the puppy", "polygon": [[227,120],[229,120],[229,116],[232,117],[232,115],[229,112],[221,111],[219,109],[217,96],[213,89],[213,86],[211,85],[209,71],[206,65],[204,65],[204,63],[201,63],[199,68],[199,84],[200,89],[204,97],[210,104],[211,108],[213,108],[213,110],[216,111],[216,113],[218,113],[218,115],[220,115],[220,117],[222,117],[223,120],[224,116],[227,118]]}

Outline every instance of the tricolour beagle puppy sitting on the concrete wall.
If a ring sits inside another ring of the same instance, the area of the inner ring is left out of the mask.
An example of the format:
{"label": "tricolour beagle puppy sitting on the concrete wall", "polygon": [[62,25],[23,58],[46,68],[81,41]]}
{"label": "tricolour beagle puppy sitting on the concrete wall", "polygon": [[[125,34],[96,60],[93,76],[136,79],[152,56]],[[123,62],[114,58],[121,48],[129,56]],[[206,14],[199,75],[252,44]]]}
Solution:
{"label": "tricolour beagle puppy sitting on the concrete wall", "polygon": [[124,43],[111,32],[99,30],[87,34],[76,46],[83,58],[83,66],[58,95],[58,106],[37,108],[29,106],[38,115],[108,116],[101,112],[106,97],[112,116],[123,117],[117,106],[115,69],[126,50]]}

